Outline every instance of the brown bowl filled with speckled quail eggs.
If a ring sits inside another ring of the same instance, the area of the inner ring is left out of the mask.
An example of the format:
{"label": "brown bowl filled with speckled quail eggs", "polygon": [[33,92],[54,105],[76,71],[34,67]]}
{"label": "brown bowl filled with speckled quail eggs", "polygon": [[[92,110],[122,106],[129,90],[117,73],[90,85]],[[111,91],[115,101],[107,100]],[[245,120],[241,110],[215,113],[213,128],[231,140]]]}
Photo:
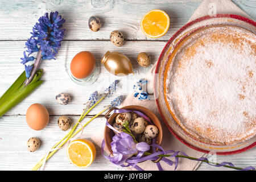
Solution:
{"label": "brown bowl filled with speckled quail eggs", "polygon": [[[122,131],[121,123],[128,122],[130,130],[138,142],[146,142],[148,144],[151,144],[152,139],[155,138],[156,144],[160,145],[162,143],[162,138],[163,138],[162,125],[161,125],[158,117],[156,117],[156,115],[154,113],[152,113],[151,110],[148,110],[147,108],[142,107],[142,106],[135,106],[135,105],[125,106],[125,107],[120,108],[120,109],[126,109],[126,110],[140,111],[141,113],[143,113],[150,119],[150,122],[148,122],[148,121],[146,121],[146,119],[144,119],[140,115],[134,113],[134,111],[127,112],[129,114],[113,113],[113,114],[109,115],[109,113],[111,113],[111,111],[113,111],[114,109],[118,109],[118,108],[110,109],[108,111],[108,113],[106,113],[105,118],[108,119],[108,123],[111,126],[113,126],[115,129],[117,129],[118,131]],[[123,115],[121,115],[121,117],[120,117],[120,114],[123,114]],[[122,119],[123,119],[123,121],[122,121]],[[150,127],[150,126],[152,126],[152,127]],[[144,134],[146,128],[148,131],[146,131],[146,134]],[[153,132],[154,132],[154,134],[153,134]],[[105,143],[106,143],[106,148],[108,149],[108,151],[111,154],[113,153],[112,148],[111,148],[111,142],[112,142],[112,138],[114,137],[115,134],[116,134],[116,132],[114,132],[108,126],[105,126],[104,139],[105,139]]]}

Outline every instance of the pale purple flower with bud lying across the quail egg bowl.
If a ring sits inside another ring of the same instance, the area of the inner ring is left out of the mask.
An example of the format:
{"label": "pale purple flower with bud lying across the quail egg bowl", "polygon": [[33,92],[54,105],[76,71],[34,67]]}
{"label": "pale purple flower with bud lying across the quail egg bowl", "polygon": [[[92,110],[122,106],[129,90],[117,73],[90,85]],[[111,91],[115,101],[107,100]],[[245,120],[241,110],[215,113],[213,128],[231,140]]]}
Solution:
{"label": "pale purple flower with bud lying across the quail egg bowl", "polygon": [[113,158],[110,161],[114,164],[121,165],[125,163],[138,151],[146,152],[150,150],[150,146],[146,142],[135,143],[131,135],[127,133],[118,133],[113,137],[111,142]]}

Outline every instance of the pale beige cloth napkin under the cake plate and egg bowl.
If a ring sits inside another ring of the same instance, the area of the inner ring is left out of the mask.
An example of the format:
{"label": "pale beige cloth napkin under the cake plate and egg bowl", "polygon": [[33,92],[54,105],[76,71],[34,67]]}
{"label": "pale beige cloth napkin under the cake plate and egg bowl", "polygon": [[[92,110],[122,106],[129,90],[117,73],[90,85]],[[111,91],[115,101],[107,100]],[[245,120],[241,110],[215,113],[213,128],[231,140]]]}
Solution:
{"label": "pale beige cloth napkin under the cake plate and egg bowl", "polygon": [[[237,15],[250,18],[249,15],[243,12],[239,7],[237,7],[230,0],[205,0],[197,8],[195,13],[188,20],[188,22],[191,22],[192,20],[200,18],[201,16],[214,15],[214,14],[237,14]],[[148,80],[148,85],[151,85],[151,86],[153,86],[152,77],[154,76],[154,73],[155,73],[155,67],[156,67],[156,63],[145,76]],[[151,89],[148,88],[148,90],[152,90],[152,88]],[[153,113],[155,113],[159,119],[161,119],[158,108],[155,104],[155,100],[139,101],[137,100],[137,98],[134,98],[133,93],[131,93],[126,97],[126,99],[122,102],[119,108],[127,105],[140,105],[143,107],[147,107]],[[174,135],[170,133],[170,131],[167,129],[167,127],[165,127],[163,122],[162,122],[162,126],[163,126],[163,141],[161,146],[164,148],[164,150],[183,151],[185,152],[185,154],[192,156],[194,158],[207,156],[207,154],[193,150],[192,148],[185,146],[185,144],[181,143],[178,139],[174,137]],[[96,144],[98,144],[98,146],[101,146],[101,142],[103,140],[103,133],[104,133],[104,128],[101,129],[100,133],[97,133],[92,137],[92,140]],[[172,158],[171,160],[174,161],[174,158]],[[174,170],[174,165],[169,166],[164,162],[160,162],[160,163],[164,170]],[[186,171],[196,170],[196,168],[199,167],[200,163],[201,162],[197,162],[195,160],[179,158],[179,164],[176,170],[186,170]],[[138,166],[143,168],[146,171],[158,170],[158,167],[156,166],[156,164],[152,163],[151,161],[139,163]],[[135,170],[135,169],[133,168],[132,170]]]}

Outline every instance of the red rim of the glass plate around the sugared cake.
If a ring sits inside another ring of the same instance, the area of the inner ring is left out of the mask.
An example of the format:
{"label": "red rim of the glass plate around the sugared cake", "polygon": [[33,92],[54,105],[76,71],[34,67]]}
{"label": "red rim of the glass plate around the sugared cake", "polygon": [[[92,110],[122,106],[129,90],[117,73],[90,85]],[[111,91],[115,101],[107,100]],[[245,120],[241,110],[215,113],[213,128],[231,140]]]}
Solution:
{"label": "red rim of the glass plate around the sugared cake", "polygon": [[[206,19],[212,19],[212,18],[233,18],[233,19],[238,19],[241,20],[243,22],[249,23],[251,25],[253,25],[254,27],[256,27],[256,22],[254,22],[253,20],[249,19],[249,18],[245,18],[243,16],[240,15],[234,15],[234,14],[217,14],[216,16],[203,16],[201,18],[197,18],[195,20],[193,20],[192,22],[189,22],[187,24],[185,24],[183,27],[181,27],[177,32],[175,32],[174,35],[172,35],[171,39],[168,40],[168,42],[166,43],[166,46],[164,46],[162,52],[160,53],[159,59],[158,59],[158,63],[156,64],[156,69],[155,69],[155,76],[154,76],[154,88],[155,87],[155,80],[156,80],[156,75],[157,73],[159,73],[159,67],[160,67],[160,61],[164,55],[164,52],[166,51],[166,48],[170,45],[171,42],[173,42],[173,40],[177,37],[177,35],[180,34],[180,32],[182,32],[183,30],[185,30],[185,28],[188,28],[189,26],[192,26],[193,24],[197,23],[197,22],[201,22],[202,20],[206,20]],[[156,93],[156,92],[155,92]],[[158,98],[155,99],[156,102],[156,106],[158,107],[159,113],[164,121],[164,124],[167,126],[167,128],[171,131],[171,133],[178,139],[180,140],[180,142],[184,143],[186,146],[193,148],[196,151],[200,151],[200,152],[204,152],[204,153],[208,153],[209,151],[207,150],[203,150],[201,148],[192,146],[191,144],[188,144],[184,139],[180,138],[175,131],[171,128],[170,125],[168,125],[168,122],[166,121],[166,119],[163,116],[162,111],[160,110],[160,106],[158,103]],[[216,152],[217,155],[232,155],[232,154],[238,154],[241,152],[244,152],[246,150],[249,150],[250,148],[253,148],[256,146],[256,142],[250,144],[249,146],[246,146],[244,148],[241,148],[239,150],[235,150],[235,151],[228,151],[228,152]]]}

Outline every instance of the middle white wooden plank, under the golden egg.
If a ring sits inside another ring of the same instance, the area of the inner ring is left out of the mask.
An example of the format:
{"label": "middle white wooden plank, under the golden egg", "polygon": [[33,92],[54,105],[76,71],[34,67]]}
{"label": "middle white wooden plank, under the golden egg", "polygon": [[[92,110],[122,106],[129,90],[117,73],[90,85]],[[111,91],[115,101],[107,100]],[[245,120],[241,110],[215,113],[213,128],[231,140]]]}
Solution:
{"label": "middle white wooden plank, under the golden egg", "polygon": [[[39,86],[36,92],[32,93],[22,103],[20,103],[20,105],[23,105],[23,107],[18,105],[17,107],[6,113],[7,115],[24,115],[26,114],[27,107],[35,101],[44,104],[51,115],[79,115],[81,114],[83,104],[88,101],[90,93],[94,92],[95,90],[98,90],[99,93],[102,92],[105,88],[109,86],[109,84],[111,84],[111,82],[116,79],[120,80],[120,87],[117,90],[118,94],[126,95],[130,92],[133,92],[133,85],[135,84],[135,82],[139,81],[140,78],[143,78],[150,69],[150,67],[158,60],[161,49],[164,47],[166,42],[126,42],[126,44],[121,48],[112,46],[112,43],[110,43],[109,41],[64,41],[62,44],[63,46],[60,48],[59,53],[56,56],[56,60],[44,60],[40,65],[40,67],[44,69],[44,74],[42,77],[44,83]],[[19,74],[23,71],[23,65],[19,64],[19,62],[21,61],[20,57],[23,54],[24,42],[0,42],[0,47],[1,57],[4,57],[7,51],[10,51],[10,49],[13,49],[13,47],[15,47],[11,55],[8,56],[8,62],[0,62],[0,77],[5,78],[1,81],[0,95],[2,95],[5,90],[9,88],[10,84],[14,82]],[[73,56],[83,50],[90,51],[94,54],[101,72],[97,81],[89,86],[81,86],[75,84],[69,78],[68,73],[65,71],[69,68],[69,63],[71,62]],[[110,75],[110,73],[106,71],[104,65],[100,63],[101,58],[108,50],[125,53],[125,55],[130,58],[133,64],[135,72],[134,75],[131,74],[127,77]],[[142,51],[148,52],[151,57],[152,64],[149,68],[142,68],[137,63],[137,54]],[[60,92],[67,92],[71,94],[71,104],[63,106],[55,101],[56,94]],[[112,101],[114,97],[117,97],[117,95],[102,101],[100,105],[93,109],[90,114],[98,113],[102,109],[102,106],[109,105],[110,101]]]}

